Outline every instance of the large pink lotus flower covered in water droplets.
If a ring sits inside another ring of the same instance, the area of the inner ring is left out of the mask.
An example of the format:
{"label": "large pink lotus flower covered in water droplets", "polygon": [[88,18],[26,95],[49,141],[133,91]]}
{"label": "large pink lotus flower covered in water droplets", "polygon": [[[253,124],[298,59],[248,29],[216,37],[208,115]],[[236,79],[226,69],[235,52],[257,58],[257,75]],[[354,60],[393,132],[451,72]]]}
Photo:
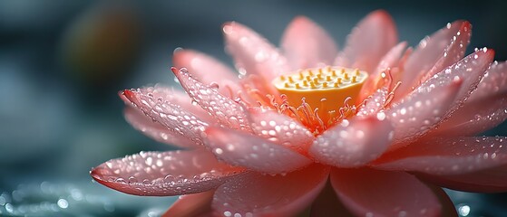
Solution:
{"label": "large pink lotus flower covered in water droplets", "polygon": [[[383,11],[336,44],[297,17],[278,50],[249,28],[223,26],[239,77],[178,50],[180,90],[123,90],[125,116],[185,150],[141,152],[97,166],[123,193],[180,195],[169,216],[435,216],[438,187],[507,190],[507,138],[474,137],[507,118],[507,66],[491,49],[463,57],[471,24],[456,21],[414,49]],[[328,183],[328,184],[327,184]],[[454,212],[455,214],[455,212]]]}

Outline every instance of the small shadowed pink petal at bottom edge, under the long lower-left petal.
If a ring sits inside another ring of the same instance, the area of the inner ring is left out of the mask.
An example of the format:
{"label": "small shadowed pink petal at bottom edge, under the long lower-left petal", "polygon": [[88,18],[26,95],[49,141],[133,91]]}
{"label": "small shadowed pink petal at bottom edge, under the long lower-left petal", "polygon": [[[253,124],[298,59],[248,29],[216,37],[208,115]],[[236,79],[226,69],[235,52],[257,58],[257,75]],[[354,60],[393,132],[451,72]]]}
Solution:
{"label": "small shadowed pink petal at bottom edge, under the long lower-left petal", "polygon": [[182,195],[162,217],[209,216],[214,191]]}

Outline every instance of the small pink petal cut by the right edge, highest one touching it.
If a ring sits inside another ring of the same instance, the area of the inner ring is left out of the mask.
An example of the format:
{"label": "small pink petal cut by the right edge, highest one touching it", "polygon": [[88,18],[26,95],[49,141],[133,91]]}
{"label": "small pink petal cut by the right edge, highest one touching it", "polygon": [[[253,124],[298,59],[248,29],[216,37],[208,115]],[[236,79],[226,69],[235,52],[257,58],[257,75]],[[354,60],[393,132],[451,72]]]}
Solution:
{"label": "small pink petal cut by the right edge, highest one touching it", "polygon": [[477,89],[473,90],[470,98],[463,106],[466,107],[467,104],[473,104],[473,100],[475,99],[488,98],[495,94],[504,94],[505,92],[507,92],[507,61],[503,61],[502,63],[495,61],[484,74],[483,80],[481,80]]}

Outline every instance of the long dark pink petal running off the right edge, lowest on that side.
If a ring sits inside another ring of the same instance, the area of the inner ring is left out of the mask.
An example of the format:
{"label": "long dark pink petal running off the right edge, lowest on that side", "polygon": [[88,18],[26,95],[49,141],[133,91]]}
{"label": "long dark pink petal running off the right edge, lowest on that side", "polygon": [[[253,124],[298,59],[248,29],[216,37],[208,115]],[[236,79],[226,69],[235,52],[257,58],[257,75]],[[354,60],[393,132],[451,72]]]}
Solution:
{"label": "long dark pink petal running off the right edge, lowest on that side", "polygon": [[405,170],[462,191],[507,191],[506,137],[440,137],[382,156],[375,167]]}

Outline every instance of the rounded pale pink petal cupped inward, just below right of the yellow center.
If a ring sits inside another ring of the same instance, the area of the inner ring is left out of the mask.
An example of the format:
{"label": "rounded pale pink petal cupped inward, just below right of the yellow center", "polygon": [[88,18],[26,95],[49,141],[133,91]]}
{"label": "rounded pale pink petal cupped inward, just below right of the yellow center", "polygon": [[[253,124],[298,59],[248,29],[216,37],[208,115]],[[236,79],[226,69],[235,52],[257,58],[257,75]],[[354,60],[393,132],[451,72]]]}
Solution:
{"label": "rounded pale pink petal cupped inward, just below right of the yellow center", "polygon": [[393,138],[393,127],[379,118],[342,122],[317,137],[309,154],[320,163],[338,167],[365,165],[380,156]]}

